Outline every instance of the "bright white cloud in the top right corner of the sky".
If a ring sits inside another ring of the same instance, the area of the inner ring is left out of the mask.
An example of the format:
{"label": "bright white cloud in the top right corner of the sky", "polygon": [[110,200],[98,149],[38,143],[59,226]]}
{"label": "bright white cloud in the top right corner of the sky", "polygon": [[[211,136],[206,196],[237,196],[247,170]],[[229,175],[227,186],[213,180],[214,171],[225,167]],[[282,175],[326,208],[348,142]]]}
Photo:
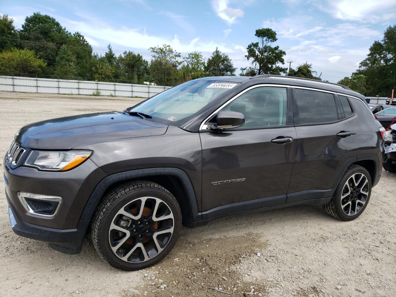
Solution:
{"label": "bright white cloud in the top right corner of the sky", "polygon": [[325,4],[313,4],[334,18],[362,23],[378,23],[390,16],[390,9],[396,8],[396,1],[392,0],[327,0]]}

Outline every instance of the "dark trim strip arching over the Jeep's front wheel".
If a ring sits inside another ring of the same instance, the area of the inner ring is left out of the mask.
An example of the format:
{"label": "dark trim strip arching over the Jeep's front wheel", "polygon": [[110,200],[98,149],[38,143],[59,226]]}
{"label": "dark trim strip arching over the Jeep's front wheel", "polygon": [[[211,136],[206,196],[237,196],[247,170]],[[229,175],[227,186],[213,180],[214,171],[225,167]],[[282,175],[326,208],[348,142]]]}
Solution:
{"label": "dark trim strip arching over the Jeep's front wheel", "polygon": [[185,192],[187,193],[187,202],[188,207],[190,208],[191,221],[200,221],[201,215],[198,213],[198,205],[194,192],[194,188],[192,187],[192,183],[185,171],[179,168],[147,168],[147,169],[136,169],[131,171],[125,171],[120,173],[115,173],[109,175],[102,179],[99,184],[93,190],[91,196],[88,199],[87,204],[84,207],[84,210],[81,214],[80,221],[83,220],[91,220],[101,199],[103,198],[103,194],[105,194],[106,190],[118,183],[120,181],[128,181],[136,178],[144,178],[144,177],[152,177],[152,176],[174,176],[180,179]]}

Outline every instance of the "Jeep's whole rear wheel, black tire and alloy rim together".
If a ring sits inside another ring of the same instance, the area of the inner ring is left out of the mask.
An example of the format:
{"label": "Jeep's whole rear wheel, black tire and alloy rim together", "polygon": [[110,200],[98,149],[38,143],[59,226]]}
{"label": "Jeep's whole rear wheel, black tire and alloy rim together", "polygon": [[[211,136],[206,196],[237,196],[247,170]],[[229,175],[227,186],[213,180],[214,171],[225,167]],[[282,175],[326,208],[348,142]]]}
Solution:
{"label": "Jeep's whole rear wheel, black tire and alloy rim together", "polygon": [[352,165],[346,169],[325,211],[341,221],[351,221],[361,215],[371,195],[371,178],[362,166]]}

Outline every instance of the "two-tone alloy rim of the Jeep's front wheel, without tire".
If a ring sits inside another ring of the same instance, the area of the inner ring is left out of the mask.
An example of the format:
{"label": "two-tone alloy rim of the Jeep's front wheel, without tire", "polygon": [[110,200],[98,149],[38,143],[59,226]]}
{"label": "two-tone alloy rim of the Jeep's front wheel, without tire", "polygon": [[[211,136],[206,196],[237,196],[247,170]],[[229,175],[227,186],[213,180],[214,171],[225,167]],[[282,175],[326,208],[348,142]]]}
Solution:
{"label": "two-tone alloy rim of the Jeep's front wheel, without tire", "polygon": [[141,263],[161,253],[173,228],[173,213],[168,204],[156,197],[141,197],[116,213],[109,228],[109,244],[121,260]]}

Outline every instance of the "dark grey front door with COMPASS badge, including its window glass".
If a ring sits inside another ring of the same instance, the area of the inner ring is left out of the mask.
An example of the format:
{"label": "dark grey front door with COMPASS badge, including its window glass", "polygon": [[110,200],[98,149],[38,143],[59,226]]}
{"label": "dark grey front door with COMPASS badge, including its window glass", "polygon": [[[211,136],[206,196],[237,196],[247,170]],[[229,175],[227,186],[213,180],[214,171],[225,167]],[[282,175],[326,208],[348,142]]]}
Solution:
{"label": "dark grey front door with COMPASS badge, including its window glass", "polygon": [[286,202],[296,139],[288,106],[286,87],[251,87],[221,109],[242,112],[242,127],[201,131],[202,219]]}

